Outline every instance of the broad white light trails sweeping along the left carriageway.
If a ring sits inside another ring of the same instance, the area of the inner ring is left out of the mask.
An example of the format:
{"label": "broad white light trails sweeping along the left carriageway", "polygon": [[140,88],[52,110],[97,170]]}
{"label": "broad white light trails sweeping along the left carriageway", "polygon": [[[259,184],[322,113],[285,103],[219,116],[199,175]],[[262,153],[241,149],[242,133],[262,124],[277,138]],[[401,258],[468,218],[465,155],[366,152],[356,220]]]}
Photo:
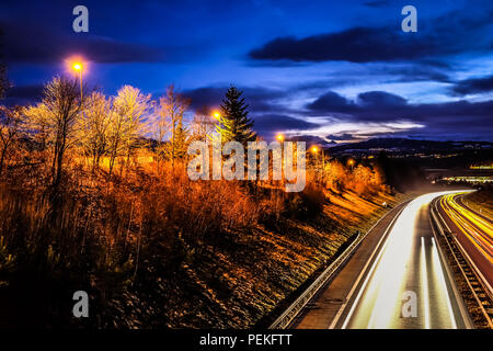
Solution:
{"label": "broad white light trails sweeping along the left carriageway", "polygon": [[[456,193],[422,195],[402,211],[377,247],[379,253],[363,283],[355,283],[358,294],[343,314],[342,328],[466,328],[461,299],[455,294],[429,222],[431,202]],[[415,304],[415,315],[405,313],[410,304]]]}

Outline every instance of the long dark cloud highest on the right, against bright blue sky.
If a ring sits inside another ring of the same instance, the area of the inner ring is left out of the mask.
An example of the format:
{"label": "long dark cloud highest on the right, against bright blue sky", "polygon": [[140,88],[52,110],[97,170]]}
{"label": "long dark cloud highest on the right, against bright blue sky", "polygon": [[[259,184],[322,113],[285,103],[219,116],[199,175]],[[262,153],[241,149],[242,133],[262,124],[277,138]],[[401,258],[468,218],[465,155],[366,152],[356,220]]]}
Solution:
{"label": "long dark cloud highest on the right, against bright blue sky", "polygon": [[474,13],[451,12],[423,25],[417,33],[400,27],[352,27],[341,32],[302,38],[277,37],[249,53],[255,60],[301,61],[409,61],[432,59],[471,50],[492,48],[492,9]]}

